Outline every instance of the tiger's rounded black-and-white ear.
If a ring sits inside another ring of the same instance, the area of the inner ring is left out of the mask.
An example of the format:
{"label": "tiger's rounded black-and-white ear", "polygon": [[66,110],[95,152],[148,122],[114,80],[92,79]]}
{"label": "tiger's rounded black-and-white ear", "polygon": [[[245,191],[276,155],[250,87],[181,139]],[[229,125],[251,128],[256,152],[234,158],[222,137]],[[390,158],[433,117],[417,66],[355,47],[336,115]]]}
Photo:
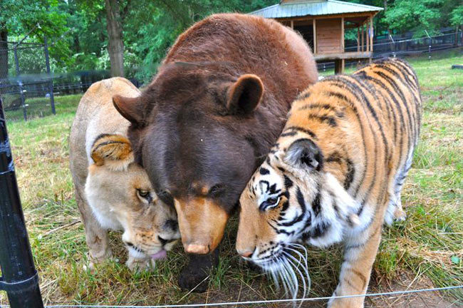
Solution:
{"label": "tiger's rounded black-and-white ear", "polygon": [[312,140],[301,138],[289,146],[284,160],[293,168],[310,168],[317,171],[323,168],[323,153]]}

